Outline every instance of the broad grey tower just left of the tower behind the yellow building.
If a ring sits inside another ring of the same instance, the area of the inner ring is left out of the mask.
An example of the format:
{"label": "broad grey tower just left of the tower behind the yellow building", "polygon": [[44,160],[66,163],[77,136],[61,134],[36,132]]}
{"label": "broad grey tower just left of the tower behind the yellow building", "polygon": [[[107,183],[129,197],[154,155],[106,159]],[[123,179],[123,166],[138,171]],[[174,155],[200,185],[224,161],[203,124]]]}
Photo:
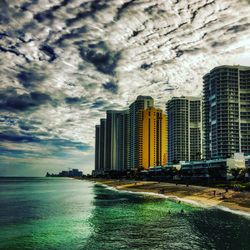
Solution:
{"label": "broad grey tower just left of the tower behind the yellow building", "polygon": [[128,168],[128,111],[107,111],[105,170],[125,171]]}

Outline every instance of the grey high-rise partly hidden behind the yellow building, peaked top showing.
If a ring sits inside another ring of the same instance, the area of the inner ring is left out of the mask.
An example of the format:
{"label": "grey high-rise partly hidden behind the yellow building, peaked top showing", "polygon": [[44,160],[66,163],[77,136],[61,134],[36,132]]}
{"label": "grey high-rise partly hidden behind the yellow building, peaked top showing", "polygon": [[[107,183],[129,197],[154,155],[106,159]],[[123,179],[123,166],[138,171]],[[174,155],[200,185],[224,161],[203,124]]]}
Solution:
{"label": "grey high-rise partly hidden behind the yellow building, peaked top showing", "polygon": [[139,111],[153,107],[154,99],[151,96],[138,96],[129,106],[129,168],[139,167],[139,130],[142,126]]}

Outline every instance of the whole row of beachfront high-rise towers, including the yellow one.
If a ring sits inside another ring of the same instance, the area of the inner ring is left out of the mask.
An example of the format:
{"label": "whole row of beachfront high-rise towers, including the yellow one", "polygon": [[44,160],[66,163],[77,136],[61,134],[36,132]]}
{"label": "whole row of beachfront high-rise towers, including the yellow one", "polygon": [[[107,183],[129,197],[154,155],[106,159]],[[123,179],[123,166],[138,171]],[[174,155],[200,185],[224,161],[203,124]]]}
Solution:
{"label": "whole row of beachfront high-rise towers, including the yellow one", "polygon": [[[126,122],[119,120],[122,114]],[[206,176],[210,167],[225,178],[226,166],[235,168],[240,159],[247,164],[249,131],[250,67],[215,67],[203,77],[202,96],[172,97],[165,113],[155,108],[151,96],[142,95],[126,111],[108,110],[96,125],[93,176],[176,166],[188,176],[195,165],[199,176]],[[124,158],[127,164],[122,164]]]}

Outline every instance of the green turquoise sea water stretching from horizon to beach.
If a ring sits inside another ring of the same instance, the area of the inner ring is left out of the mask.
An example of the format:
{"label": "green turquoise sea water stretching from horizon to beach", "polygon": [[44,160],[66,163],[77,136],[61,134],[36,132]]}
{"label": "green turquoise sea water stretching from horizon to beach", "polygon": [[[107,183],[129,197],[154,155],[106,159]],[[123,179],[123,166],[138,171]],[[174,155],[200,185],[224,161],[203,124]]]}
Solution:
{"label": "green turquoise sea water stretching from horizon to beach", "polygon": [[88,181],[0,178],[0,249],[249,250],[250,220]]}

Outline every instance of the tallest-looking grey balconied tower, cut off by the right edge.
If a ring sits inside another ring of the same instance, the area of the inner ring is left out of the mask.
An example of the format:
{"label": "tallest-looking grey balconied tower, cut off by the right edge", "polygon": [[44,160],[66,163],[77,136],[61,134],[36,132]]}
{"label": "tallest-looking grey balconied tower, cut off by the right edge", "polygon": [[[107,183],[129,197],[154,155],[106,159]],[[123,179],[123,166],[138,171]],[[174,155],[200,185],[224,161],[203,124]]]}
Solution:
{"label": "tallest-looking grey balconied tower, cut off by the right edge", "polygon": [[216,67],[203,83],[206,159],[250,154],[250,67]]}

